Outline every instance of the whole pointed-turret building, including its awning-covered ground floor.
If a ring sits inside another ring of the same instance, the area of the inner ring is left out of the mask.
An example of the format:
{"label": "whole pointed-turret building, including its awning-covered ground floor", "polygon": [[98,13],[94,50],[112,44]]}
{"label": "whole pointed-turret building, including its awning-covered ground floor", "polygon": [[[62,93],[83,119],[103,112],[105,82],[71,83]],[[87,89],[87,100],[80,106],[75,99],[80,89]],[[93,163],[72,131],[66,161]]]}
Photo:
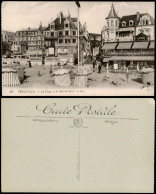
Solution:
{"label": "whole pointed-turret building, including its awning-covered ground floor", "polygon": [[112,5],[106,20],[102,29],[104,62],[154,67],[153,17],[137,12],[119,18]]}

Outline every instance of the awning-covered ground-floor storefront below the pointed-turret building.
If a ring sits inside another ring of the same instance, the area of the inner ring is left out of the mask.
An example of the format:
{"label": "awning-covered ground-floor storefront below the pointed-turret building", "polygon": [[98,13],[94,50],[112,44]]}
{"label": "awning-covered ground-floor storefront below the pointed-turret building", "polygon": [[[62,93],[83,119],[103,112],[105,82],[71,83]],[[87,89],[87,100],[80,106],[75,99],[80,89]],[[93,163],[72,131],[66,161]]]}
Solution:
{"label": "awning-covered ground-floor storefront below the pointed-turret building", "polygon": [[136,69],[137,66],[154,68],[154,41],[128,41],[105,43],[103,46],[103,62],[119,68],[126,66]]}

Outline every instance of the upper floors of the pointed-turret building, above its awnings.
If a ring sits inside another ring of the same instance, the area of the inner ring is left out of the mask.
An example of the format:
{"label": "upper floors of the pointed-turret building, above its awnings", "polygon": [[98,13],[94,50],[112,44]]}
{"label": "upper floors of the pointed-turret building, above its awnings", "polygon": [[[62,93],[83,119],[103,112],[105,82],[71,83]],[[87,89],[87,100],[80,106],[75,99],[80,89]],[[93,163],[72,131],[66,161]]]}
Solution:
{"label": "upper floors of the pointed-turret building, above its awnings", "polygon": [[103,43],[132,41],[140,33],[145,34],[148,40],[154,40],[154,19],[148,13],[137,12],[119,18],[112,4],[106,22],[101,32]]}

